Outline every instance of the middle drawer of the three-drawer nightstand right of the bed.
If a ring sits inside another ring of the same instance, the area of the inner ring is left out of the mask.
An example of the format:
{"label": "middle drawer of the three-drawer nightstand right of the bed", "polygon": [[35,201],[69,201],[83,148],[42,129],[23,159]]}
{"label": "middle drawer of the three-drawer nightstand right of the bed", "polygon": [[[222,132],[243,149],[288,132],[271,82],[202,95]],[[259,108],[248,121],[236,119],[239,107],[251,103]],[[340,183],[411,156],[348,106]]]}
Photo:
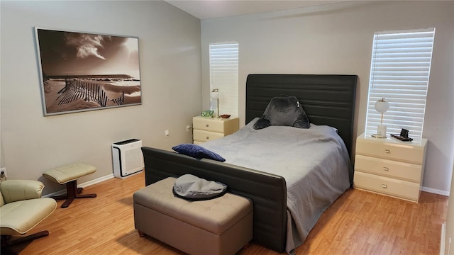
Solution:
{"label": "middle drawer of the three-drawer nightstand right of the bed", "polygon": [[397,162],[388,159],[367,157],[356,154],[355,172],[362,171],[404,181],[419,183],[421,180],[422,165]]}

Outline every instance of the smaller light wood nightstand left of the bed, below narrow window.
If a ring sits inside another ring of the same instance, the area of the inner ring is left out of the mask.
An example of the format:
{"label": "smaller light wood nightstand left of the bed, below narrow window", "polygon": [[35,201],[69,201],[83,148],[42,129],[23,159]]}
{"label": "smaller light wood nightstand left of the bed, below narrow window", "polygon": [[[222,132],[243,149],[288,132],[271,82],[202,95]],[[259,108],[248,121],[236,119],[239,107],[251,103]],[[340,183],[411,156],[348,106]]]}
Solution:
{"label": "smaller light wood nightstand left of the bed, below narrow window", "polygon": [[215,140],[238,131],[238,118],[210,118],[196,116],[192,118],[194,145]]}

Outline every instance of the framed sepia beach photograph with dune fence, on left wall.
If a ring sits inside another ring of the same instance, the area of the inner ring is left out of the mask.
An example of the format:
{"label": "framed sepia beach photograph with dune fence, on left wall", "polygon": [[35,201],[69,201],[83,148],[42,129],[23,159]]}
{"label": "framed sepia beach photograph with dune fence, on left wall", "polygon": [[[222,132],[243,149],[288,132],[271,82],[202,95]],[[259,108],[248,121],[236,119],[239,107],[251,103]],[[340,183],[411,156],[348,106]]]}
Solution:
{"label": "framed sepia beach photograph with dune fence, on left wall", "polygon": [[138,38],[35,28],[44,115],[142,103]]}

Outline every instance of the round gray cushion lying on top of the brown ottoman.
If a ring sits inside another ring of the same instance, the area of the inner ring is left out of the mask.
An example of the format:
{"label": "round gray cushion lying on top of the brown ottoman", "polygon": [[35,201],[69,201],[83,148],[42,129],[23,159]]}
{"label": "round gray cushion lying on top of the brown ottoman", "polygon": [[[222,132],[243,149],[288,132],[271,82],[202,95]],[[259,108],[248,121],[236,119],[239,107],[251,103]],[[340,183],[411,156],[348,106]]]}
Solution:
{"label": "round gray cushion lying on top of the brown ottoman", "polygon": [[207,200],[223,196],[227,185],[217,181],[206,181],[192,174],[184,174],[175,180],[173,193],[187,200]]}

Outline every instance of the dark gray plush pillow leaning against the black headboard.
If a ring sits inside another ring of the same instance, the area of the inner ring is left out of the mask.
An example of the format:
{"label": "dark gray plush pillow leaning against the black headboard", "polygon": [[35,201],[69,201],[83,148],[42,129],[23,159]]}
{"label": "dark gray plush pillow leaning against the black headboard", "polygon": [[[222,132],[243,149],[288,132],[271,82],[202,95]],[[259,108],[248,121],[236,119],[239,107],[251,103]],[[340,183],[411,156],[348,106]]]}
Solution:
{"label": "dark gray plush pillow leaning against the black headboard", "polygon": [[267,128],[270,125],[309,128],[309,118],[295,96],[271,98],[265,113],[254,124],[254,129]]}

